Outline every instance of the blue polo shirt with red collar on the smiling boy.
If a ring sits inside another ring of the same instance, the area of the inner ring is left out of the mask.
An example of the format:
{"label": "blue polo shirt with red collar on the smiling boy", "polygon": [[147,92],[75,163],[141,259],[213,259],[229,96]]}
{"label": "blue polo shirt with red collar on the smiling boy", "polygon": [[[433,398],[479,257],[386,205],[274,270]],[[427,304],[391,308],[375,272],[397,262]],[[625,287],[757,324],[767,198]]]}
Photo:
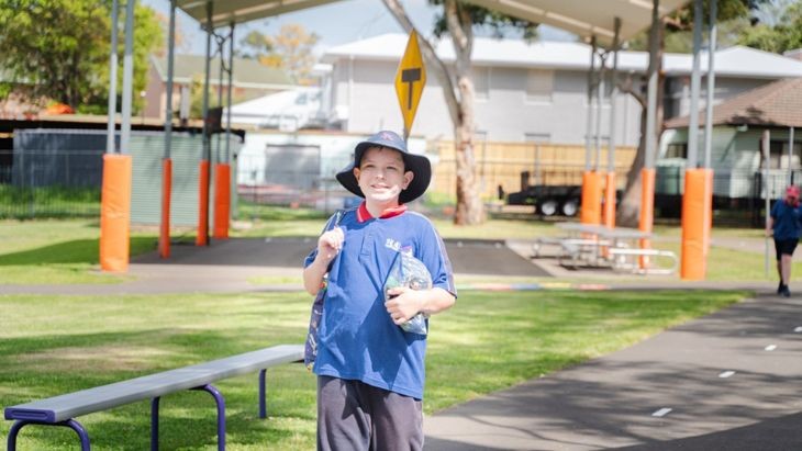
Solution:
{"label": "blue polo shirt with red collar on the smiling boy", "polygon": [[347,211],[339,227],[345,241],[328,271],[314,372],[422,399],[426,336],[392,322],[383,285],[399,250],[410,247],[432,274],[433,286],[456,296],[443,240],[425,216],[403,206],[374,218],[363,204]]}

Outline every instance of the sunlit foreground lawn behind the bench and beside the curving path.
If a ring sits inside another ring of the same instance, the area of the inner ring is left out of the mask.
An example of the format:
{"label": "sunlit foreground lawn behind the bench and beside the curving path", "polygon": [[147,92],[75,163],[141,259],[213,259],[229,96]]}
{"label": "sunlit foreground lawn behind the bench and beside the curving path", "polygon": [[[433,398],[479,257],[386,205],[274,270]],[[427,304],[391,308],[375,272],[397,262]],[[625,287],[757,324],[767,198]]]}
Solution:
{"label": "sunlit foreground lawn behind the bench and beside the curving path", "polygon": [[[432,319],[431,415],[625,348],[743,298],[742,292],[471,292]],[[302,342],[305,293],[171,296],[0,296],[0,405],[112,383],[261,347]],[[226,397],[230,450],[314,449],[315,380],[300,364],[268,372],[268,415],[257,374],[215,384]],[[205,393],[161,399],[161,448],[216,449]],[[149,404],[80,417],[102,450],[147,449]],[[0,422],[5,437],[11,421]],[[26,427],[20,449],[78,449],[66,428]]]}

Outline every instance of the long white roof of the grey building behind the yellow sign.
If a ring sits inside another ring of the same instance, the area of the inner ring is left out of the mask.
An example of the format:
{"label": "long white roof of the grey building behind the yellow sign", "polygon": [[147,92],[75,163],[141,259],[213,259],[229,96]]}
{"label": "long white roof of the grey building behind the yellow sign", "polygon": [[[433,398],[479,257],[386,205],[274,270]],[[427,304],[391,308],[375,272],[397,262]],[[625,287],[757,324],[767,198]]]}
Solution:
{"label": "long white roof of the grey building behind the yellow sign", "polygon": [[[341,58],[398,61],[406,47],[404,34],[382,34],[328,48],[322,57],[324,63]],[[437,55],[445,61],[454,61],[454,47],[448,40],[436,45]],[[522,40],[495,40],[476,37],[471,61],[476,66],[532,67],[552,69],[588,70],[590,68],[589,45],[577,42]],[[706,53],[701,54],[702,70],[706,71]],[[689,75],[693,68],[690,54],[666,54],[664,70],[668,75]],[[608,58],[610,59],[610,58]],[[608,66],[611,61],[608,61]],[[597,60],[597,67],[599,61]],[[620,52],[619,69],[623,71],[646,71],[648,53]],[[802,60],[743,46],[734,46],[715,53],[715,72],[719,76],[745,78],[802,77]]]}

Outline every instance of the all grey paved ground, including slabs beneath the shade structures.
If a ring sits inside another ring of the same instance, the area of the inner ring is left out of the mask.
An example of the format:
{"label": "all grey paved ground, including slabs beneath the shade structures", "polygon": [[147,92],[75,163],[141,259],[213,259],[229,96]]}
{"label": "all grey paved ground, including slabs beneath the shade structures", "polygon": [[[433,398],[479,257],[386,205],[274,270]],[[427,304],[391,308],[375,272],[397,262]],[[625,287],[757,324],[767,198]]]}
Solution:
{"label": "all grey paved ground, including slabs beneath the shade structures", "polygon": [[[172,257],[135,259],[116,285],[0,285],[0,293],[167,293],[299,290],[254,285],[257,275],[297,277],[314,244],[231,239],[174,246]],[[746,245],[762,251],[761,240]],[[531,243],[448,241],[457,280],[560,271],[531,260]],[[802,252],[798,252],[802,253]],[[557,274],[559,275],[559,274]],[[609,287],[724,287],[676,277],[620,278],[571,271]],[[541,279],[543,280],[543,279]],[[802,450],[802,297],[769,283],[728,284],[758,296],[667,330],[632,348],[528,381],[425,419],[426,450]],[[792,286],[802,293],[802,285]]]}

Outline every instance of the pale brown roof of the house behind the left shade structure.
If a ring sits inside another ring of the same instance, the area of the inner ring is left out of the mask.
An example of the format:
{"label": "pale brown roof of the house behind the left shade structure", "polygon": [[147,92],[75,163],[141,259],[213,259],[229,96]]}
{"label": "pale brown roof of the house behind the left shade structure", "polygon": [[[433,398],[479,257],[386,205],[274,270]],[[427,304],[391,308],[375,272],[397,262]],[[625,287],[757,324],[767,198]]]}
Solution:
{"label": "pale brown roof of the house behind the left shade structure", "polygon": [[[202,55],[176,55],[174,64],[174,81],[189,83],[192,77],[203,76],[205,72],[204,57]],[[151,55],[151,64],[158,72],[163,81],[167,81],[167,57]],[[211,84],[219,84],[220,58],[211,61],[210,80]],[[223,83],[227,83],[227,75],[223,74]],[[267,67],[254,59],[234,58],[233,80],[235,87],[240,88],[292,88],[292,80],[281,71]]]}

